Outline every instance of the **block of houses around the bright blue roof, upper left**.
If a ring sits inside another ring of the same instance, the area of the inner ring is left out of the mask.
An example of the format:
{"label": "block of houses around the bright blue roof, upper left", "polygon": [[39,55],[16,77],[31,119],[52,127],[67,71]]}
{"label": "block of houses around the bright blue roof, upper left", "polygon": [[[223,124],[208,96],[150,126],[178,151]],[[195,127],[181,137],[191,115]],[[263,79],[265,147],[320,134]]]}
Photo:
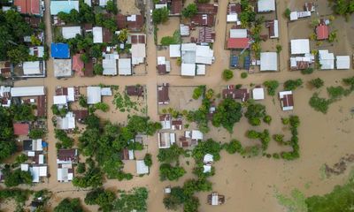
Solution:
{"label": "block of houses around the bright blue roof, upper left", "polygon": [[[99,5],[105,7],[107,1],[84,1],[89,6]],[[142,33],[144,27],[144,17],[141,14],[123,15],[104,13],[105,18],[114,19],[118,30],[110,31],[106,27],[93,26],[92,24],[82,24],[81,26],[66,24],[59,19],[58,13],[69,13],[71,10],[80,10],[79,1],[61,0],[50,1],[50,15],[55,32],[63,39],[75,38],[78,34],[86,36],[92,34],[94,44],[106,44],[102,49],[102,60],[96,57],[89,57],[87,62],[81,59],[82,52],[72,52],[67,43],[51,43],[51,57],[54,58],[54,76],[57,78],[66,78],[73,76],[76,72],[79,76],[91,77],[94,75],[94,65],[101,64],[103,74],[107,76],[132,75],[134,67],[145,65],[146,57],[146,34]],[[114,36],[118,36],[124,30],[128,31],[127,41],[120,42],[119,45],[113,45]]]}

